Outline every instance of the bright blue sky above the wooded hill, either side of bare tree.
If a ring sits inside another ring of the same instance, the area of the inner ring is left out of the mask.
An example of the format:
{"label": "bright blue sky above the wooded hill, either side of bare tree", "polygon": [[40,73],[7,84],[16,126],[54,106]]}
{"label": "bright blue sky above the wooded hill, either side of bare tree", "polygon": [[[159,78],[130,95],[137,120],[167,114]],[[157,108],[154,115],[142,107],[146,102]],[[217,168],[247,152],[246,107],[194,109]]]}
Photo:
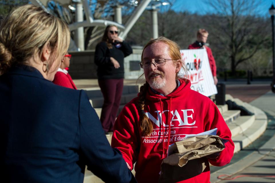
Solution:
{"label": "bright blue sky above the wooded hill, either side of bare tree", "polygon": [[[250,2],[250,0],[247,0]],[[213,12],[213,9],[205,3],[205,0],[176,0],[172,9],[175,11],[189,11],[190,13],[206,14]],[[256,0],[259,3],[255,14],[269,16],[268,9],[274,4],[275,0]],[[275,4],[274,4],[275,5]]]}

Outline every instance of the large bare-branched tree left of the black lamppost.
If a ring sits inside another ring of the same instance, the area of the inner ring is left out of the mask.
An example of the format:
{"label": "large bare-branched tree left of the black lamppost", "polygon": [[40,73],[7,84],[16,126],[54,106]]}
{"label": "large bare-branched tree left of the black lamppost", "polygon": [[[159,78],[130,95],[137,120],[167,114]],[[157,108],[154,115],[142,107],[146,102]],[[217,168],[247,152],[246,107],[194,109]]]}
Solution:
{"label": "large bare-branched tree left of the black lamppost", "polygon": [[[235,73],[237,66],[253,58],[260,50],[268,49],[270,41],[270,21],[256,16],[258,1],[211,0],[209,5],[217,13],[206,21],[212,31],[216,50],[227,61]],[[220,48],[223,48],[220,49]]]}

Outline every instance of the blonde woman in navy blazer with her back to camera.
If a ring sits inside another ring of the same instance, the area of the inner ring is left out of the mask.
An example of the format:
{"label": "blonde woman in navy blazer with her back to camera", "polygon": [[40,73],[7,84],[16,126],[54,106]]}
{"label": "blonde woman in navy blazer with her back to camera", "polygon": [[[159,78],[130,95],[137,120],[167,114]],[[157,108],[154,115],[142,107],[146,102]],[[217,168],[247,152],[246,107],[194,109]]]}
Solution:
{"label": "blonde woman in navy blazer with her back to camera", "polygon": [[25,5],[0,30],[1,180],[82,183],[87,165],[105,182],[130,182],[85,92],[51,82],[69,46],[68,26]]}

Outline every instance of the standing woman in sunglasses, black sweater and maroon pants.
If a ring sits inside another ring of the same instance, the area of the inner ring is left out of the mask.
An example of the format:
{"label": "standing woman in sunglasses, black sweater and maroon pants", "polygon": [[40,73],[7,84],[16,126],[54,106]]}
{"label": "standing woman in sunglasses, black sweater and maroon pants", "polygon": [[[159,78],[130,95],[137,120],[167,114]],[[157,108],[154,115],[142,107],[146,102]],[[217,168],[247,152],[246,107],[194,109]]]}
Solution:
{"label": "standing woman in sunglasses, black sweater and maroon pants", "polygon": [[113,131],[123,89],[124,57],[132,52],[131,46],[118,37],[115,25],[106,27],[95,48],[98,84],[104,97],[100,121],[105,133]]}

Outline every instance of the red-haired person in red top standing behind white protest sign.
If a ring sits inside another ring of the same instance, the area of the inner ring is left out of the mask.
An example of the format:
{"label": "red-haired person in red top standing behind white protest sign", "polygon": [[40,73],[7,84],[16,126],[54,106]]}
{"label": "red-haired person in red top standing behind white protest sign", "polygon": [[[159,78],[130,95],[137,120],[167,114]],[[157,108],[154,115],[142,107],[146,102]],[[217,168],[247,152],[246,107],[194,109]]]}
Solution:
{"label": "red-haired person in red top standing behind white protest sign", "polygon": [[211,72],[214,78],[214,83],[217,85],[218,79],[217,79],[217,67],[216,67],[216,62],[212,54],[211,48],[206,46],[206,41],[208,38],[208,32],[205,29],[199,29],[197,32],[197,41],[193,44],[190,44],[188,46],[188,49],[200,49],[200,48],[205,48],[207,55],[208,55],[208,60],[211,68]]}

